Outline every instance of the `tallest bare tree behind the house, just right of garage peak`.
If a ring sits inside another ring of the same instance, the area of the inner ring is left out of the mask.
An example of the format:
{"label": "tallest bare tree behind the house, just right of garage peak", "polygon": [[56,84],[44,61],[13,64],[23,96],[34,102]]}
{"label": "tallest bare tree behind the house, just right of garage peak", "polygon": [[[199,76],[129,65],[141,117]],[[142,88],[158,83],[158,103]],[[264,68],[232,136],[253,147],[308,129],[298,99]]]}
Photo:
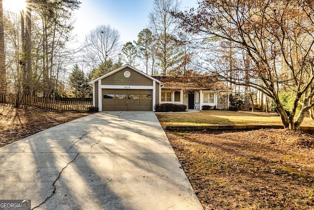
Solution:
{"label": "tallest bare tree behind the house, just right of garage peak", "polygon": [[150,28],[157,38],[157,58],[163,76],[178,62],[175,58],[178,53],[175,18],[170,12],[178,11],[179,6],[178,0],[154,0],[154,8],[149,14]]}

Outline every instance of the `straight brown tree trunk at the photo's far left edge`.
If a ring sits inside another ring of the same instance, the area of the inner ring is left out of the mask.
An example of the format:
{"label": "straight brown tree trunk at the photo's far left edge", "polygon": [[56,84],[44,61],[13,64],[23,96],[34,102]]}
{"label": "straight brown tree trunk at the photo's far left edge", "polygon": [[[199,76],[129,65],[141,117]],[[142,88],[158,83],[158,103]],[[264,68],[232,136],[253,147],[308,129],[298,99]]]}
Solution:
{"label": "straight brown tree trunk at the photo's far left edge", "polygon": [[6,92],[5,43],[3,25],[3,7],[2,0],[0,0],[0,93]]}

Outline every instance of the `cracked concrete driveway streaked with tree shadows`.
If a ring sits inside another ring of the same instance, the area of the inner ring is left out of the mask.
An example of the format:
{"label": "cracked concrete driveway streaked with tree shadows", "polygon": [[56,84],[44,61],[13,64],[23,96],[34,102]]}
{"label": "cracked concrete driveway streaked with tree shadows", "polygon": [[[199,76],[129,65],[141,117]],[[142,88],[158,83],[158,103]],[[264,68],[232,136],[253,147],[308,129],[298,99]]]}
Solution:
{"label": "cracked concrete driveway streaked with tree shadows", "polygon": [[153,112],[105,112],[0,148],[0,199],[32,209],[202,210]]}

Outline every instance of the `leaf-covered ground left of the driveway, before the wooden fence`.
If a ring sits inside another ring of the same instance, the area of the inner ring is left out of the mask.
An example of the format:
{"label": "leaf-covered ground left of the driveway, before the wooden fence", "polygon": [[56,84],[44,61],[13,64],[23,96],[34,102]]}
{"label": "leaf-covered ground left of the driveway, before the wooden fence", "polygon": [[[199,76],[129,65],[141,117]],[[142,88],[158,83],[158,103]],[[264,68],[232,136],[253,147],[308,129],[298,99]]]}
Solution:
{"label": "leaf-covered ground left of the driveway, before the wooden fence", "polygon": [[89,114],[57,113],[33,106],[14,108],[9,104],[0,104],[0,147],[87,115]]}

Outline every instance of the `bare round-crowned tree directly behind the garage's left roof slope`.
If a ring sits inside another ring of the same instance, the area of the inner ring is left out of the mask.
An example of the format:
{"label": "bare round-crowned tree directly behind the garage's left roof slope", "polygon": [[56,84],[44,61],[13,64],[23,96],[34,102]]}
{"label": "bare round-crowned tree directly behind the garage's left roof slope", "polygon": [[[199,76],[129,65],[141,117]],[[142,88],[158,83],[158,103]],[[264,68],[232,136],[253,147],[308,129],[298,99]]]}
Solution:
{"label": "bare round-crowned tree directly behind the garage's left roof slope", "polygon": [[108,60],[116,62],[121,52],[120,33],[109,25],[98,26],[91,30],[85,38],[86,55],[92,63],[92,69]]}

